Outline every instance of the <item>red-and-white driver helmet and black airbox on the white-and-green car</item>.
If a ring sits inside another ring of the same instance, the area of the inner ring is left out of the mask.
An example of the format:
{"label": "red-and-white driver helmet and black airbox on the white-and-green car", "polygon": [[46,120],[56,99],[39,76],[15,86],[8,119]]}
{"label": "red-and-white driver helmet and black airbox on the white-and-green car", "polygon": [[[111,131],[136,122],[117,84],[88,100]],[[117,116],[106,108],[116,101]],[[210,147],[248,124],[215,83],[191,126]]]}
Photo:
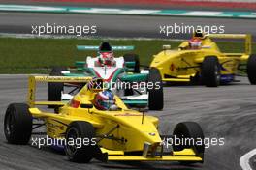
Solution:
{"label": "red-and-white driver helmet and black airbox on the white-and-green car", "polygon": [[112,46],[109,42],[102,42],[99,47],[99,62],[102,65],[112,66],[114,55],[112,52]]}

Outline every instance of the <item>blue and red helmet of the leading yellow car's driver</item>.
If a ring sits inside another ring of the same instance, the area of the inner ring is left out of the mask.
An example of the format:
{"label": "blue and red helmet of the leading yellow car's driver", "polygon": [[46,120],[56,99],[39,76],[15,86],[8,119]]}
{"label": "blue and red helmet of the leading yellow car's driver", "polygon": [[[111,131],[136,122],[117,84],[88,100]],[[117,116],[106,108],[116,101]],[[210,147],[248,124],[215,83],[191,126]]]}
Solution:
{"label": "blue and red helmet of the leading yellow car's driver", "polygon": [[96,94],[93,102],[94,106],[99,110],[110,110],[112,105],[115,105],[115,99],[110,90]]}

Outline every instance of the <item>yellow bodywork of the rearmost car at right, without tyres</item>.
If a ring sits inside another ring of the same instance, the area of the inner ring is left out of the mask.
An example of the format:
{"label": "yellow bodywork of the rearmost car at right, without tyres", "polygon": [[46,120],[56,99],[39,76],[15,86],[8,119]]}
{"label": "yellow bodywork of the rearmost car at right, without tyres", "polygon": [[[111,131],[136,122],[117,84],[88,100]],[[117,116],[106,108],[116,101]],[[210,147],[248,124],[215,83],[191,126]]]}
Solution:
{"label": "yellow bodywork of the rearmost car at right, without tyres", "polygon": [[[243,53],[223,53],[211,39],[244,39]],[[241,62],[246,62],[251,54],[251,35],[211,34],[202,40],[200,49],[189,49],[188,41],[182,42],[178,49],[163,50],[150,64],[150,68],[160,71],[163,81],[189,82],[201,73],[201,64],[207,56],[216,56],[221,65],[221,75],[235,75]]]}

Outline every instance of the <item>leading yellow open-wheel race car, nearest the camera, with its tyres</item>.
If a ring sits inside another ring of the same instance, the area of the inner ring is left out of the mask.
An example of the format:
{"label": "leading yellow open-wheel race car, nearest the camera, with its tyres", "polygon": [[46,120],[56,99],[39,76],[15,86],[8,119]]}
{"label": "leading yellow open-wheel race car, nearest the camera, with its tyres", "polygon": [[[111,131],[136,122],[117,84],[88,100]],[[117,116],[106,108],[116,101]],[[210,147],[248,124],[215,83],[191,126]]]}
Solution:
{"label": "leading yellow open-wheel race car, nearest the camera, with its tyres", "polygon": [[[37,82],[88,82],[90,85],[87,83],[73,99],[65,103],[38,101],[35,96]],[[173,145],[171,151],[164,152],[163,136],[158,132],[159,120],[127,108],[117,96],[114,96],[115,109],[97,109],[92,100],[96,94],[104,91],[101,84],[102,79],[90,80],[85,77],[30,76],[28,104],[12,103],[5,114],[4,132],[8,142],[27,144],[33,130],[45,126],[49,138],[66,141],[65,153],[75,162],[89,162],[92,158],[102,161],[204,161],[204,143],[193,143],[191,140],[187,144]],[[43,111],[42,106],[50,104],[60,106],[57,113]],[[37,124],[34,124],[35,120]],[[40,120],[42,124],[38,124]],[[174,136],[180,140],[204,140],[202,128],[194,122],[177,124],[171,137]],[[79,146],[75,142],[78,139],[86,142]]]}

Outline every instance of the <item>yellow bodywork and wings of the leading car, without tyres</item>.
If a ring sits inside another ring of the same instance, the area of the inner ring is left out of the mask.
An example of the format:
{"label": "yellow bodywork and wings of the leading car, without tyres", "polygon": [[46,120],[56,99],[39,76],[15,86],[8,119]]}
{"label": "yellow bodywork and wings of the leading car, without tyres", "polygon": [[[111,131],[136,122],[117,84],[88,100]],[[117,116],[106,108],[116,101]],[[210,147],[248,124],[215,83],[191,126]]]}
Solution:
{"label": "yellow bodywork and wings of the leading car, without tyres", "polygon": [[[91,104],[96,92],[91,91],[85,85],[80,92],[69,102],[36,101],[37,82],[87,82],[87,77],[64,77],[64,76],[30,76],[28,103],[30,113],[34,118],[45,121],[47,134],[51,138],[64,138],[69,125],[74,121],[89,122],[96,131],[96,136],[108,134],[119,139],[99,140],[102,153],[108,154],[108,160],[154,160],[154,161],[196,161],[203,162],[203,157],[197,156],[193,149],[170,153],[169,156],[126,156],[128,152],[143,152],[144,143],[161,148],[162,139],[158,133],[159,120],[156,117],[144,115],[143,113],[131,110],[115,96],[118,111],[102,111],[93,108],[74,108],[72,100],[80,104]],[[57,114],[42,111],[37,105],[60,105]]]}

